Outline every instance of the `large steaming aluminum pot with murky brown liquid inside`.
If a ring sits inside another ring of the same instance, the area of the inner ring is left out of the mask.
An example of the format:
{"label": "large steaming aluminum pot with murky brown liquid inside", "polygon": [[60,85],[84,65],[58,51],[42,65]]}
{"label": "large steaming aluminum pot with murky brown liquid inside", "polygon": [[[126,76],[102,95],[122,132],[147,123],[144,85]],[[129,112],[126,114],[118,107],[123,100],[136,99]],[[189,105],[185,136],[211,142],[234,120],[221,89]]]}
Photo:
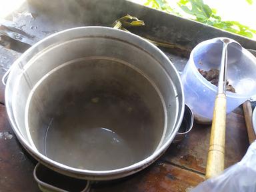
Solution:
{"label": "large steaming aluminum pot with murky brown liquid inside", "polygon": [[40,163],[71,177],[117,179],[153,163],[184,111],[173,63],[137,35],[108,27],[55,33],[15,61],[9,121]]}

